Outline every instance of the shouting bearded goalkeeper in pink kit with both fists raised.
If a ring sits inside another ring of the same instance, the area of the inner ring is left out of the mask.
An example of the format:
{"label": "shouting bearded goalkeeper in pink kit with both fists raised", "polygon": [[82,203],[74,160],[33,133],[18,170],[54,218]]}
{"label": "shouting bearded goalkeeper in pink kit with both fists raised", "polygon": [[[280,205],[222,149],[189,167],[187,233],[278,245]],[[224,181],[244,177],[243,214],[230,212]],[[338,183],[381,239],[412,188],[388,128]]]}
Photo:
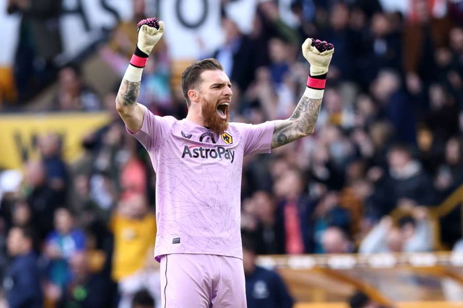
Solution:
{"label": "shouting bearded goalkeeper in pink kit with both fists raised", "polygon": [[163,307],[246,307],[240,235],[243,157],[270,152],[313,133],[332,44],[308,38],[306,91],[293,115],[259,125],[229,121],[231,84],[222,65],[205,59],[182,73],[188,114],[158,117],[136,102],[146,59],[164,23],[139,23],[138,43],[116,98],[128,131],[156,171],[155,258]]}

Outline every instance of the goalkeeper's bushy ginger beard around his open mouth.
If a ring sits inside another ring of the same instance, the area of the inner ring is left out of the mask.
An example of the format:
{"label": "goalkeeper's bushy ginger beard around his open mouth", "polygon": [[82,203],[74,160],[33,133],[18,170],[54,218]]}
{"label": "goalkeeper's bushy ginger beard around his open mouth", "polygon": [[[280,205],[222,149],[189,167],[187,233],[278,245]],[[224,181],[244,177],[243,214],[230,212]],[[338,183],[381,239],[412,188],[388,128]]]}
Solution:
{"label": "goalkeeper's bushy ginger beard around his open mouth", "polygon": [[227,129],[228,121],[230,120],[229,105],[224,105],[223,103],[229,103],[229,100],[211,102],[204,98],[201,105],[204,122],[207,127],[218,134],[222,134]]}

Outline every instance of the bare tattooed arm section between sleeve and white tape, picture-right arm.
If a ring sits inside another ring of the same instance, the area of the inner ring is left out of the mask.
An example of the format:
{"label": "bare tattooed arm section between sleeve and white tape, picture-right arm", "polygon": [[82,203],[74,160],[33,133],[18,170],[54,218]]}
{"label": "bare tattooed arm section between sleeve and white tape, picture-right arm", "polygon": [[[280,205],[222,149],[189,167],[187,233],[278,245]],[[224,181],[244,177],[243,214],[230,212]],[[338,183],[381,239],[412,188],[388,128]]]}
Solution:
{"label": "bare tattooed arm section between sleeve and white tape, picture-right arm", "polygon": [[291,118],[275,121],[272,148],[313,133],[320,108],[322,108],[322,99],[310,99],[302,96]]}

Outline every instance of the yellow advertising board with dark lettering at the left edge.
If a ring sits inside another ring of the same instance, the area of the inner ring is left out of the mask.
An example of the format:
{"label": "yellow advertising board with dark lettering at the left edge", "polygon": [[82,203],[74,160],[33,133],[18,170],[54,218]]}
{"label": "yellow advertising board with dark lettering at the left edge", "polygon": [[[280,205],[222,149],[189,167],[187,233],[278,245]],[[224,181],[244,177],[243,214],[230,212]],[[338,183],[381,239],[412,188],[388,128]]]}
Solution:
{"label": "yellow advertising board with dark lettering at the left edge", "polygon": [[47,132],[58,134],[63,157],[73,162],[82,154],[82,138],[109,121],[106,112],[0,115],[0,168],[21,168],[24,161],[37,158],[37,137]]}

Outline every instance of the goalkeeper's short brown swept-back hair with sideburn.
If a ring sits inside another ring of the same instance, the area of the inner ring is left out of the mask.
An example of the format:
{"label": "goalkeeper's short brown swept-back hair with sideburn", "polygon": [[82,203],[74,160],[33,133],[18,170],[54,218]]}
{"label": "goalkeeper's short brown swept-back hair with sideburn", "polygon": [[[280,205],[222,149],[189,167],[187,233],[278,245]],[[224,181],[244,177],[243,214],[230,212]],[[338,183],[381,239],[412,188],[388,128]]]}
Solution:
{"label": "goalkeeper's short brown swept-back hair with sideburn", "polygon": [[199,83],[201,82],[201,73],[205,70],[223,71],[223,66],[216,59],[208,58],[194,62],[193,64],[188,66],[182,73],[182,93],[188,107],[190,107],[188,91],[191,88],[197,87],[199,85]]}

